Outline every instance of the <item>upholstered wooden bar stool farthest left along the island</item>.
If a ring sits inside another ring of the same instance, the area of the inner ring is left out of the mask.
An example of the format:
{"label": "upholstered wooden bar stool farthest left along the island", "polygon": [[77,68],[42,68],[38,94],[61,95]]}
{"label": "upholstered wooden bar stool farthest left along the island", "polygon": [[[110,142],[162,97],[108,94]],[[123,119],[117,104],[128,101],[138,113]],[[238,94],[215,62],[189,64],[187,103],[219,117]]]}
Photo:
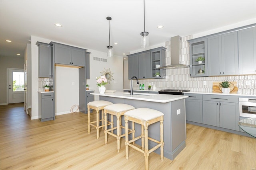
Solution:
{"label": "upholstered wooden bar stool farthest left along the island", "polygon": [[[90,126],[95,127],[97,130],[97,139],[99,139],[99,129],[102,127],[102,129],[104,128],[104,115],[103,115],[103,111],[102,111],[102,119],[100,119],[100,115],[99,115],[99,111],[103,110],[104,107],[113,104],[112,102],[108,102],[105,100],[98,100],[98,101],[93,101],[93,102],[89,102],[87,104],[87,109],[88,109],[88,134],[90,134]],[[94,109],[96,110],[96,121],[90,121],[90,109]],[[100,125],[100,121],[101,121],[101,125]]]}

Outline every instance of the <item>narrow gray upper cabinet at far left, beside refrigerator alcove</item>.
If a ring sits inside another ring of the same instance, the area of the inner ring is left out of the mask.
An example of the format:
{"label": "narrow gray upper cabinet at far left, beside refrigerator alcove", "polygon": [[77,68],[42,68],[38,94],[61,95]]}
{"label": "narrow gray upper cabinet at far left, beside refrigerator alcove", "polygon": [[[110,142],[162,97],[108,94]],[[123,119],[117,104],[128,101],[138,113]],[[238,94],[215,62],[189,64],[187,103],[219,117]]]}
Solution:
{"label": "narrow gray upper cabinet at far left, beside refrigerator alcove", "polygon": [[37,42],[38,46],[38,77],[52,78],[51,46]]}

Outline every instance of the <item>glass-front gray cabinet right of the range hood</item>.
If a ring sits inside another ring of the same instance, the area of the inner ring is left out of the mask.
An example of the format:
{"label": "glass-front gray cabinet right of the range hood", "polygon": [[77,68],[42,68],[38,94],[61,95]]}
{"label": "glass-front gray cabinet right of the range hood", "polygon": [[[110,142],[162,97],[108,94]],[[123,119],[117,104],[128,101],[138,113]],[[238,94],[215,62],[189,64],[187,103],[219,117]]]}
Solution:
{"label": "glass-front gray cabinet right of the range hood", "polygon": [[190,50],[190,76],[205,77],[208,76],[207,66],[207,39],[198,39],[188,41]]}

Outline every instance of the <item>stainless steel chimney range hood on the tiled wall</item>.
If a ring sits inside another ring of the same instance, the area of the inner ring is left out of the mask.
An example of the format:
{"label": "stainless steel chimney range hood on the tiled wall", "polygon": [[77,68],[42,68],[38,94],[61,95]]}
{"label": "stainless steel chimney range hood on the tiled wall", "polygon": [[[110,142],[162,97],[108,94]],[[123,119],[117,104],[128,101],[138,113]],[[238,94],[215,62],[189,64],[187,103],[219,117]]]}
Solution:
{"label": "stainless steel chimney range hood on the tiled wall", "polygon": [[179,35],[175,37],[171,37],[171,65],[162,66],[160,68],[174,69],[174,68],[189,67],[189,65],[179,63],[180,41],[181,41],[181,37]]}

